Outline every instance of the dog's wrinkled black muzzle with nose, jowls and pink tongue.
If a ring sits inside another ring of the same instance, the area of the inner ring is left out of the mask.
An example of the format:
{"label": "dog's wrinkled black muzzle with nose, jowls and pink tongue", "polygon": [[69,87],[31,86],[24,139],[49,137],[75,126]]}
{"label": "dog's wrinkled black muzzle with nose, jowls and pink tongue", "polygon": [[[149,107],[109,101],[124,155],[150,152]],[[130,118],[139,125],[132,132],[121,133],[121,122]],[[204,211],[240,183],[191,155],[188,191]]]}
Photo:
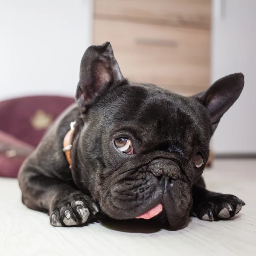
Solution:
{"label": "dog's wrinkled black muzzle with nose, jowls and pink tongue", "polygon": [[180,169],[176,162],[166,158],[154,159],[126,172],[120,173],[118,169],[100,180],[98,200],[102,212],[119,220],[177,221],[186,214],[190,197],[189,184],[179,178]]}

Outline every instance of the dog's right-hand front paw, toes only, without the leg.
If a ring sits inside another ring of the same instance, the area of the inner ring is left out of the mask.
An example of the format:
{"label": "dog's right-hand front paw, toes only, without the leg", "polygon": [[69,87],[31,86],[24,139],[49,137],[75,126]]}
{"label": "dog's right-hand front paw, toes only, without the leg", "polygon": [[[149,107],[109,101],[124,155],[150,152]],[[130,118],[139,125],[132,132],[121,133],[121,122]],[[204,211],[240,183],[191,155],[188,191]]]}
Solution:
{"label": "dog's right-hand front paw, toes only, without the leg", "polygon": [[244,201],[234,195],[218,194],[202,202],[195,214],[205,221],[217,221],[233,217],[244,205]]}

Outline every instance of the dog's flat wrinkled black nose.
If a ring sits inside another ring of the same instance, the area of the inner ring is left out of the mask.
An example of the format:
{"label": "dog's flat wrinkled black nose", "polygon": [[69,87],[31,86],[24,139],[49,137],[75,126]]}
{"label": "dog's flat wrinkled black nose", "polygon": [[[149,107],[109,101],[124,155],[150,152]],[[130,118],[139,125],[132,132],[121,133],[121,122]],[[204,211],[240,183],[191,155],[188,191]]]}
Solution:
{"label": "dog's flat wrinkled black nose", "polygon": [[147,169],[152,172],[154,176],[164,175],[166,177],[176,177],[177,171],[180,168],[177,163],[172,160],[155,159],[148,164]]}

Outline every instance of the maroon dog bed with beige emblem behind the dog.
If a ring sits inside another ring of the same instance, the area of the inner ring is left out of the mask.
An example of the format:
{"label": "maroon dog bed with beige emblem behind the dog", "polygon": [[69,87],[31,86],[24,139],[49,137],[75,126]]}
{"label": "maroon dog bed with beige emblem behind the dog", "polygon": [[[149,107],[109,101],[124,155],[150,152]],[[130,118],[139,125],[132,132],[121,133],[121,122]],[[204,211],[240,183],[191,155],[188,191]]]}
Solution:
{"label": "maroon dog bed with beige emblem behind the dog", "polygon": [[0,102],[0,176],[17,177],[24,159],[49,125],[74,102],[59,96],[29,96]]}

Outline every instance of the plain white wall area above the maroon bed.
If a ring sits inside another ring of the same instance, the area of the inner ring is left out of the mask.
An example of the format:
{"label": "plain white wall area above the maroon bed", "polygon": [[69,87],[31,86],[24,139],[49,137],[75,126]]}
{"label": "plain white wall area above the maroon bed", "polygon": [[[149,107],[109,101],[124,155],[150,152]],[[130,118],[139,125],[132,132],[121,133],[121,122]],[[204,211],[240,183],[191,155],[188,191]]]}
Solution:
{"label": "plain white wall area above the maroon bed", "polygon": [[92,0],[0,0],[0,100],[74,96]]}

